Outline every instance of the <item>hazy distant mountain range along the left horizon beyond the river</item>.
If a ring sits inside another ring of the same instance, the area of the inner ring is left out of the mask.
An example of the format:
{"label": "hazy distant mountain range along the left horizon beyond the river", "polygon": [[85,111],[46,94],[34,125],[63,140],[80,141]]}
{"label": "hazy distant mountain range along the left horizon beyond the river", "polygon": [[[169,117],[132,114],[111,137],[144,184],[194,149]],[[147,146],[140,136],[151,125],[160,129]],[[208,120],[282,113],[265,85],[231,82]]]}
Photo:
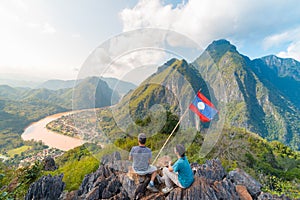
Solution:
{"label": "hazy distant mountain range along the left horizon beyond the river", "polygon": [[[121,95],[136,86],[132,83],[115,78],[89,77],[82,80],[49,80],[37,88],[11,87],[0,85],[0,99],[15,101],[44,101],[59,105],[66,109],[72,108],[73,95],[78,108],[102,107],[116,103]],[[94,102],[90,100],[94,99]],[[86,101],[86,102],[84,102]],[[74,102],[73,102],[74,103]],[[89,104],[89,105],[88,105]]]}

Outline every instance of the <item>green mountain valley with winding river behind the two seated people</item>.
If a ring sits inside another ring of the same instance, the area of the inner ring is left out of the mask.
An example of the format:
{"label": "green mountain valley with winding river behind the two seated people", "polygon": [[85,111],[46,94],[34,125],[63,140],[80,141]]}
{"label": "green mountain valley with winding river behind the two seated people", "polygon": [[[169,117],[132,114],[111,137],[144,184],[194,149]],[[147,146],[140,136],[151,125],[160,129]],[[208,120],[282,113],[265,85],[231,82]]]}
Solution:
{"label": "green mountain valley with winding river behind the two seated people", "polygon": [[149,134],[155,156],[201,90],[218,109],[216,119],[203,123],[187,110],[162,155],[184,143],[191,162],[219,158],[227,171],[242,168],[255,177],[263,191],[299,198],[299,66],[274,56],[250,60],[218,40],[191,63],[166,61],[139,86],[99,77],[48,81],[37,89],[0,86],[0,153],[9,158],[1,173],[21,180],[9,170],[21,161],[27,172],[37,170],[16,189],[22,196],[47,173],[40,160],[50,155],[59,165],[51,174],[64,173],[67,190],[74,191],[103,155],[118,150],[128,157],[140,132]]}

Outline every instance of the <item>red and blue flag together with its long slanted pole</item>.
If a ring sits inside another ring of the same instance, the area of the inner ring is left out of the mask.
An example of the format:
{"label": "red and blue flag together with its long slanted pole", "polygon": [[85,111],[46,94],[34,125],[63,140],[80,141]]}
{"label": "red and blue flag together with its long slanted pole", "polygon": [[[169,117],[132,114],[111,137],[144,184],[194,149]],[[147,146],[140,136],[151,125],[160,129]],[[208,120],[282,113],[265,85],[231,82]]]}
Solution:
{"label": "red and blue flag together with its long slanted pole", "polygon": [[[189,109],[191,111],[193,111],[195,114],[197,114],[202,122],[209,122],[218,113],[215,106],[200,91],[197,92],[194,100],[192,101],[192,103],[189,106]],[[181,118],[179,119],[178,123],[176,124],[176,126],[172,130],[171,134],[169,135],[169,137],[165,141],[164,145],[161,147],[160,151],[158,152],[157,156],[155,157],[154,161],[152,162],[152,165],[158,159],[158,157],[161,154],[162,150],[165,148],[166,144],[168,143],[168,141],[170,140],[170,138],[174,134],[176,128],[178,127],[178,125],[182,121],[183,117],[186,115],[187,111],[188,111],[188,109],[186,109],[184,111],[184,113],[181,116]]]}

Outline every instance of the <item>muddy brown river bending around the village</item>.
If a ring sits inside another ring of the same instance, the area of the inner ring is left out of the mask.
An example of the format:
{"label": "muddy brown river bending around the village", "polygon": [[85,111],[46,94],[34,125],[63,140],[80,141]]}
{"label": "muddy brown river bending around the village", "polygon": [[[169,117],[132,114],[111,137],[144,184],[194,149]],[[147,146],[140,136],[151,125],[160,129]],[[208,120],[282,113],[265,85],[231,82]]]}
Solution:
{"label": "muddy brown river bending around the village", "polygon": [[42,141],[45,145],[49,147],[57,148],[63,151],[67,151],[69,149],[73,149],[77,146],[80,146],[84,143],[83,140],[78,138],[69,137],[66,135],[62,135],[53,131],[50,131],[46,128],[46,125],[61,116],[69,115],[74,112],[64,112],[54,114],[48,117],[41,119],[38,122],[32,123],[28,126],[25,131],[22,133],[23,140],[35,140]]}

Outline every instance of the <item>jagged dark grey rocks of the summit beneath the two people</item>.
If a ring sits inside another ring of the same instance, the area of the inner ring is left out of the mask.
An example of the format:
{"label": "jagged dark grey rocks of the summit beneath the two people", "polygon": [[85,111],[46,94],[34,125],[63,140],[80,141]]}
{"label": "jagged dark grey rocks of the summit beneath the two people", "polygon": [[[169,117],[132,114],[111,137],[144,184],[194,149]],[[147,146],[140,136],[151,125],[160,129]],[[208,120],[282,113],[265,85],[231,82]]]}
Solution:
{"label": "jagged dark grey rocks of the summit beneath the two people", "polygon": [[[44,200],[96,200],[96,199],[289,199],[261,191],[261,184],[241,169],[226,173],[220,160],[207,160],[205,164],[192,163],[195,181],[191,187],[173,189],[169,194],[151,193],[146,189],[148,176],[131,172],[131,162],[121,160],[119,152],[102,158],[99,168],[87,174],[78,190],[63,192],[63,175],[43,176],[33,183],[25,197]],[[155,182],[158,185],[157,182]],[[164,185],[159,185],[159,189]]]}

